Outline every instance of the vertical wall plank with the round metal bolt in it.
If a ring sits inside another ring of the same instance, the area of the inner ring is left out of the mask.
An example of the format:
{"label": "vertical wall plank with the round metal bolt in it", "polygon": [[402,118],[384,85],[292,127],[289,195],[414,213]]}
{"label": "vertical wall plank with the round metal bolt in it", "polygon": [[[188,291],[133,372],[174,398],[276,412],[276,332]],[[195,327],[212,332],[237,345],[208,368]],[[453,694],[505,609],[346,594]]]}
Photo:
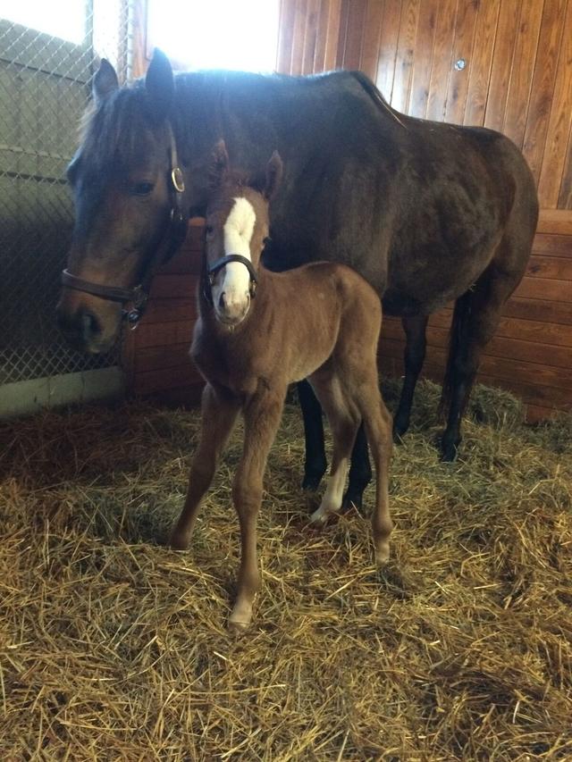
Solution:
{"label": "vertical wall plank with the round metal bolt in it", "polygon": [[467,62],[467,65],[460,71],[457,71],[454,65],[451,66],[449,84],[447,88],[445,121],[450,121],[454,124],[462,124],[465,117],[468,77],[473,58],[473,46],[475,44],[475,27],[478,7],[479,5],[475,3],[465,2],[458,4],[452,62],[454,63],[460,58],[464,58]]}

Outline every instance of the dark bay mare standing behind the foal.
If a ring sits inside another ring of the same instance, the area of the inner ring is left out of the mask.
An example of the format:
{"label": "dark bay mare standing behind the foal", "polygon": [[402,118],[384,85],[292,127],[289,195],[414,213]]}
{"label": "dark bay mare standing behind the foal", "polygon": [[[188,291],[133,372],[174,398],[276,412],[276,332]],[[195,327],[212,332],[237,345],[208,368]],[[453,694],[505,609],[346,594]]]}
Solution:
{"label": "dark bay mare standing behind the foal", "polygon": [[[68,170],[76,223],[58,310],[71,342],[101,352],[123,314],[138,319],[134,287],[176,249],[189,214],[205,213],[216,139],[250,175],[276,148],[286,172],[265,264],[349,264],[383,297],[384,312],[401,316],[397,436],[408,428],[427,316],[455,301],[442,390],[442,456],[452,459],[479,357],[526,270],[537,221],[534,180],[510,140],[396,113],[358,72],[173,77],[156,52],[146,78],[129,87],[102,62],[93,92]],[[299,390],[305,484],[315,486],[325,471],[322,419],[308,388]],[[370,476],[358,435],[348,498],[359,503]]]}

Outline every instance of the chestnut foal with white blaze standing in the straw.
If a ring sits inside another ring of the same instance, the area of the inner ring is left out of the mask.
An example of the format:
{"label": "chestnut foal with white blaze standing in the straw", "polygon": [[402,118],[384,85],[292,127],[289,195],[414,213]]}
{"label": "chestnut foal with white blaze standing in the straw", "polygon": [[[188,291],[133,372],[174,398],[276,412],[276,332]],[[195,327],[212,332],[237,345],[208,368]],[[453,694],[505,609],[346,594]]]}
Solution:
{"label": "chestnut foal with white blaze standing in the straw", "polygon": [[211,176],[206,261],[191,347],[191,356],[206,380],[202,428],[171,544],[178,549],[189,546],[201,498],[242,413],[244,449],[232,485],[241,560],[229,624],[244,629],[259,586],[257,514],[266,458],[288,384],[308,378],[332,428],[332,470],[321,505],[311,516],[314,523],[325,523],[329,514],[341,508],[351,449],[364,420],[376,472],[372,525],[379,563],[389,557],[392,529],[388,499],[391,415],[378,388],[376,352],[382,311],[374,289],[343,264],[317,262],[280,273],[260,264],[268,235],[268,202],[282,177],[280,156],[273,154],[259,191],[230,172],[221,142],[214,149]]}

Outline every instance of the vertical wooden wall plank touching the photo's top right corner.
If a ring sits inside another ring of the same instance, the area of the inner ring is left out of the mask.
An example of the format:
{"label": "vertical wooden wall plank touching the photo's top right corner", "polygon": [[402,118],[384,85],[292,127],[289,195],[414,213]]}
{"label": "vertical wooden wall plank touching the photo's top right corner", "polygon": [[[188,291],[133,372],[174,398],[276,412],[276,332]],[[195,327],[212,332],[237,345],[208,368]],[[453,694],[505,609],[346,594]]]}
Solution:
{"label": "vertical wooden wall plank touching the photo's top right corner", "polygon": [[543,165],[538,182],[541,206],[553,209],[558,204],[564,172],[568,138],[572,130],[572,2],[568,0],[565,33],[562,35],[556,85],[546,135]]}

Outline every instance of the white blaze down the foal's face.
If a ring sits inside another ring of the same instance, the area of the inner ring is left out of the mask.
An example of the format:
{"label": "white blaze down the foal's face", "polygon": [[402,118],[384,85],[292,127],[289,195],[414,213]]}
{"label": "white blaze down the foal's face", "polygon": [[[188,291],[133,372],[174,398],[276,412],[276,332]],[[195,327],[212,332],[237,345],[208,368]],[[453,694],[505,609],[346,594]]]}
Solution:
{"label": "white blaze down the foal's face", "polygon": [[[240,254],[249,260],[250,241],[254,232],[257,215],[246,198],[235,198],[231,214],[224,223],[224,254]],[[228,310],[240,309],[248,301],[250,273],[244,264],[230,262],[224,267],[223,282],[219,295],[224,292],[224,303]],[[218,297],[219,295],[216,295]],[[217,304],[217,299],[214,304]]]}

